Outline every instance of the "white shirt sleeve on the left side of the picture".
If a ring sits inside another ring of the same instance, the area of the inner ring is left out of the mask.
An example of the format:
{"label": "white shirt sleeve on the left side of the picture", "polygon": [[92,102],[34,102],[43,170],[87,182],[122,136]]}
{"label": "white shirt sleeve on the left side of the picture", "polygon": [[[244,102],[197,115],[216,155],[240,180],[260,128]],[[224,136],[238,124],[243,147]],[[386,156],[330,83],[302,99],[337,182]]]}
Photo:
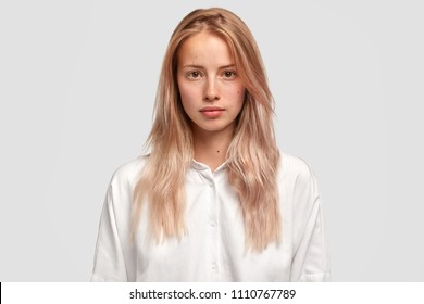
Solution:
{"label": "white shirt sleeve on the left side of the picture", "polygon": [[116,210],[113,185],[109,186],[101,213],[91,281],[128,281],[125,261],[125,242],[122,239],[120,213]]}

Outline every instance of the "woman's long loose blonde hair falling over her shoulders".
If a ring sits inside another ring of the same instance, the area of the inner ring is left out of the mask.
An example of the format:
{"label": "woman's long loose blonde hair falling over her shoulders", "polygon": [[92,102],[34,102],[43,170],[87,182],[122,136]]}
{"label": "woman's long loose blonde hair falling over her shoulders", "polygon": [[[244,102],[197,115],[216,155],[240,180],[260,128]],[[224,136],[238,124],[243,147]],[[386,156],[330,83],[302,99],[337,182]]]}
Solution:
{"label": "woman's long loose blonde hair falling over her shoulders", "polygon": [[238,194],[248,248],[262,251],[280,239],[274,101],[252,34],[232,12],[212,8],[189,13],[175,28],[163,61],[154,122],[146,144],[151,153],[134,189],[133,237],[144,202],[149,227],[158,241],[185,233],[185,177],[194,157],[189,118],[176,83],[177,53],[200,31],[226,41],[245,88],[245,103],[227,150],[228,181]]}

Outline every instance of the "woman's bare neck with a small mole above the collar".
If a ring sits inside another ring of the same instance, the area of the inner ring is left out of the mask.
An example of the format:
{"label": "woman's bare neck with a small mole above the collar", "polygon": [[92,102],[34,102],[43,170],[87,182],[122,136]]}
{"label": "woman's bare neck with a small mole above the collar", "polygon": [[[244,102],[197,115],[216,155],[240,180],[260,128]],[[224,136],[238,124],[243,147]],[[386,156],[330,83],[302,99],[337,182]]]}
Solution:
{"label": "woman's bare neck with a small mole above the collar", "polygon": [[219,132],[194,130],[195,160],[215,170],[225,162],[232,138],[233,129]]}

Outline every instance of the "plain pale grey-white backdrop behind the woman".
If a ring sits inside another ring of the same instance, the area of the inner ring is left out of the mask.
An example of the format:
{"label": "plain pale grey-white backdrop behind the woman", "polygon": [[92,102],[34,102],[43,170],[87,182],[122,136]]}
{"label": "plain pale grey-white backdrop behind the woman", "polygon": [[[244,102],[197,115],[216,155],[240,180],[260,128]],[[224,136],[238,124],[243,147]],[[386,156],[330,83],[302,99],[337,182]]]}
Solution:
{"label": "plain pale grey-white backdrop behind the woman", "polygon": [[319,179],[333,281],[424,281],[424,9],[410,0],[1,1],[0,280],[89,280],[167,40],[209,7],[257,38],[279,147]]}

